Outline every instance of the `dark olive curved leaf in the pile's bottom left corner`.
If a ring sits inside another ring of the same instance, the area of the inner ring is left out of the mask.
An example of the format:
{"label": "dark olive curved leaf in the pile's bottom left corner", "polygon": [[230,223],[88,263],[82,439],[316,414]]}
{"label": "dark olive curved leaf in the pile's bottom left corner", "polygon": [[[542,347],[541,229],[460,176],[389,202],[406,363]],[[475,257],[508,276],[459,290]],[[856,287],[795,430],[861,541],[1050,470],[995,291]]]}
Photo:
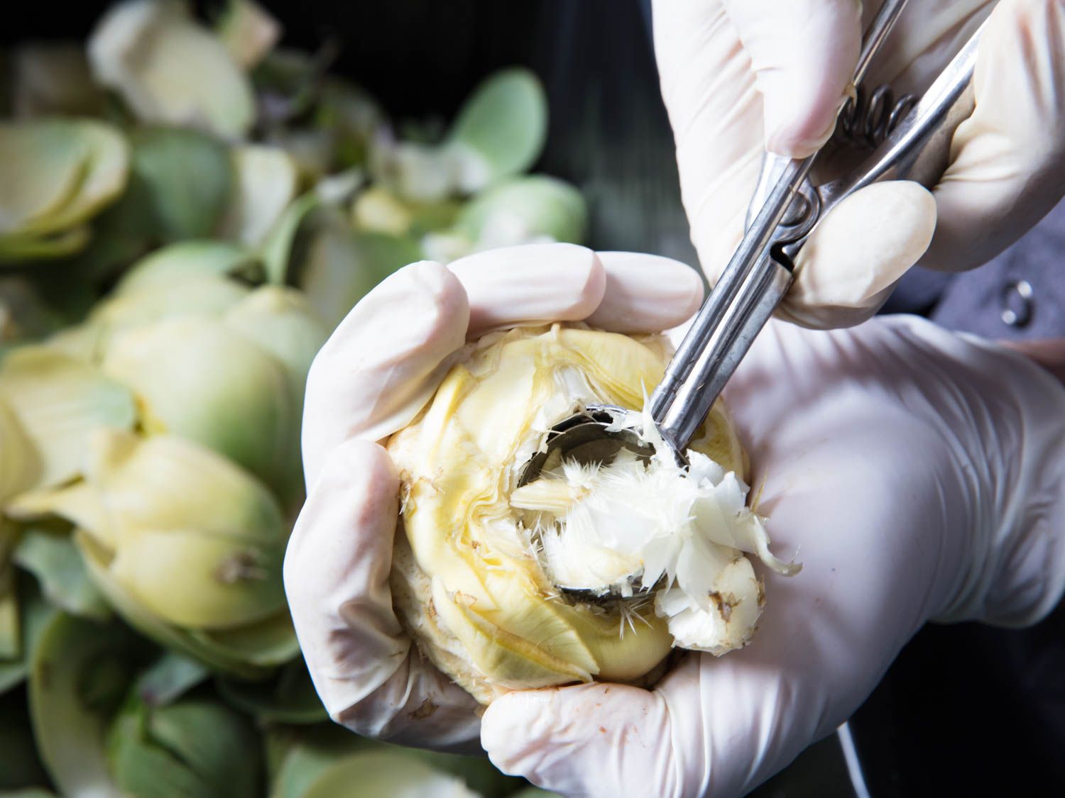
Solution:
{"label": "dark olive curved leaf in the pile's bottom left corner", "polygon": [[33,735],[63,795],[121,794],[103,746],[112,708],[92,701],[85,686],[102,664],[120,662],[127,639],[117,627],[55,613],[34,647],[29,679]]}

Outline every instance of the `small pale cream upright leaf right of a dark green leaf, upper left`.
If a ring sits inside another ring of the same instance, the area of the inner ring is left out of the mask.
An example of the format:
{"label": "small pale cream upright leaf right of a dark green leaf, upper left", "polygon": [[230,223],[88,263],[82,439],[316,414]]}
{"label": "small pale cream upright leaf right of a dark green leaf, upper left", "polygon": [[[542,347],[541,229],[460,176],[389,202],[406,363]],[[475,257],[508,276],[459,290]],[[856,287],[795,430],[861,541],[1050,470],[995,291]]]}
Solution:
{"label": "small pale cream upright leaf right of a dark green leaf, upper left", "polygon": [[299,170],[279,147],[234,147],[232,159],[234,185],[219,232],[224,238],[258,246],[295,199]]}

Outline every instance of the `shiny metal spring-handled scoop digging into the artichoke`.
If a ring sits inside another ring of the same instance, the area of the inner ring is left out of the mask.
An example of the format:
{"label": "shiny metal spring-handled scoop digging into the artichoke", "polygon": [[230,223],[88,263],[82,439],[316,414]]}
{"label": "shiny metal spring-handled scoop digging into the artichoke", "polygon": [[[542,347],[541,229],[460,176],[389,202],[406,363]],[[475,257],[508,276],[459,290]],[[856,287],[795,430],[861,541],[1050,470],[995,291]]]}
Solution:
{"label": "shiny metal spring-handled scoop digging into the artichoke", "polygon": [[[855,86],[905,3],[888,0],[876,13],[863,41]],[[886,118],[883,103],[867,106],[873,109],[870,114],[880,117],[866,127],[872,130],[880,126],[874,140],[882,140],[853,172],[814,185],[809,174],[820,151],[801,160],[767,155],[743,239],[650,399],[651,416],[676,456],[683,460],[721,389],[787,293],[796,256],[820,219],[871,183],[913,180],[930,187],[943,174],[954,130],[972,113],[970,81],[982,31],[983,27],[972,34],[920,100],[903,98]],[[881,89],[872,96],[878,94],[885,96]],[[843,112],[845,138],[854,138],[857,111],[854,103],[849,113]],[[870,140],[869,135],[863,137]],[[622,448],[640,455],[640,446],[645,450],[648,445],[635,433],[617,431],[613,414],[618,412],[629,411],[590,406],[556,425],[548,432],[545,448],[526,465],[519,485],[531,482],[563,459],[609,463]],[[642,455],[650,454],[643,451]]]}

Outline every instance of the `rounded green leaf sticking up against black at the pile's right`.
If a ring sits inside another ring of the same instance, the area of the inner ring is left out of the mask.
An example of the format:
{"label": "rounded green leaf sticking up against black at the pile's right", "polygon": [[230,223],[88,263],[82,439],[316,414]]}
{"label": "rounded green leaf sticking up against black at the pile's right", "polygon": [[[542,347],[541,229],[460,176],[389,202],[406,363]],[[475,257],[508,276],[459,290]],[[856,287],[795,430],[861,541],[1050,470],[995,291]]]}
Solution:
{"label": "rounded green leaf sticking up against black at the pile's right", "polygon": [[448,144],[462,155],[460,186],[480,190],[527,170],[547,137],[547,96],[528,69],[489,76],[455,118]]}

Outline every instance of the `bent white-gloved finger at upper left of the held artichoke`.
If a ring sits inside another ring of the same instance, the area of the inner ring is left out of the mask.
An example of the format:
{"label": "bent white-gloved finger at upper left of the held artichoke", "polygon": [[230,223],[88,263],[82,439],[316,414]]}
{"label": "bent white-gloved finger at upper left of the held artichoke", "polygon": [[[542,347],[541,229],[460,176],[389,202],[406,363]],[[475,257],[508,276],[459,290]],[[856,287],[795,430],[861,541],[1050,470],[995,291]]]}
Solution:
{"label": "bent white-gloved finger at upper left of the held artichoke", "polygon": [[380,440],[417,415],[465,344],[462,283],[422,261],[386,278],[326,342],[307,379],[304,471],[310,487],[345,440]]}

